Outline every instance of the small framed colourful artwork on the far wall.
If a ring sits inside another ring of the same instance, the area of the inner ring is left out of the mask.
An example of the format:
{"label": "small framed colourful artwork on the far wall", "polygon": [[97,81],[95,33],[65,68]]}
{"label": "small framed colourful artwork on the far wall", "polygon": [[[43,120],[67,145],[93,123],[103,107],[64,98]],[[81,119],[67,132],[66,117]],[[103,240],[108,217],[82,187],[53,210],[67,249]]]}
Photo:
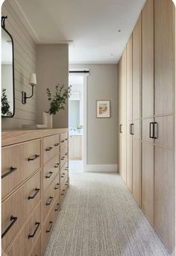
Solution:
{"label": "small framed colourful artwork on the far wall", "polygon": [[110,100],[96,100],[96,117],[110,118]]}

